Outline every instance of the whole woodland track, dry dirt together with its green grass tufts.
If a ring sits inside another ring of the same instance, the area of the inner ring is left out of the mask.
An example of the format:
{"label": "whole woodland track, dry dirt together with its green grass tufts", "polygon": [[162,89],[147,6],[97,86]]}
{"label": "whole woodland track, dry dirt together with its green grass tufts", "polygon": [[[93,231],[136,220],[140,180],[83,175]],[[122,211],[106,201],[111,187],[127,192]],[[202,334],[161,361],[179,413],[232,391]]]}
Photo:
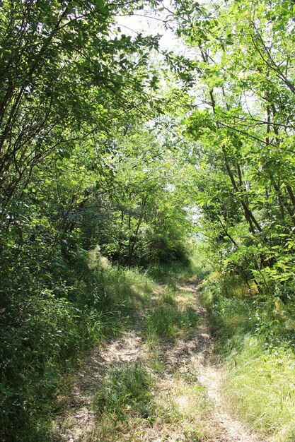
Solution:
{"label": "whole woodland track, dry dirt together with its green grass tufts", "polygon": [[[88,354],[59,398],[57,441],[266,441],[223,400],[223,368],[198,290],[193,281],[161,287],[129,330]],[[138,391],[128,390],[130,376]]]}

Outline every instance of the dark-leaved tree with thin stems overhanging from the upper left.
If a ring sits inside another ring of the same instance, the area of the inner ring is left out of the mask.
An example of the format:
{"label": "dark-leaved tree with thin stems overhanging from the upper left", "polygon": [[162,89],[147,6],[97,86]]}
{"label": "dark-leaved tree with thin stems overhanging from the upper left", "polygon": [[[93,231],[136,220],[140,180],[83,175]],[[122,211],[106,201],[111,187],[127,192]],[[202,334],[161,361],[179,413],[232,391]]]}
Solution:
{"label": "dark-leaved tree with thin stems overhanging from the upper left", "polygon": [[134,114],[146,102],[149,84],[156,85],[146,71],[147,50],[157,41],[118,34],[114,23],[117,13],[132,8],[100,1],[3,3],[3,203],[21,193],[50,153],[69,156],[75,143],[99,140],[122,112]]}

